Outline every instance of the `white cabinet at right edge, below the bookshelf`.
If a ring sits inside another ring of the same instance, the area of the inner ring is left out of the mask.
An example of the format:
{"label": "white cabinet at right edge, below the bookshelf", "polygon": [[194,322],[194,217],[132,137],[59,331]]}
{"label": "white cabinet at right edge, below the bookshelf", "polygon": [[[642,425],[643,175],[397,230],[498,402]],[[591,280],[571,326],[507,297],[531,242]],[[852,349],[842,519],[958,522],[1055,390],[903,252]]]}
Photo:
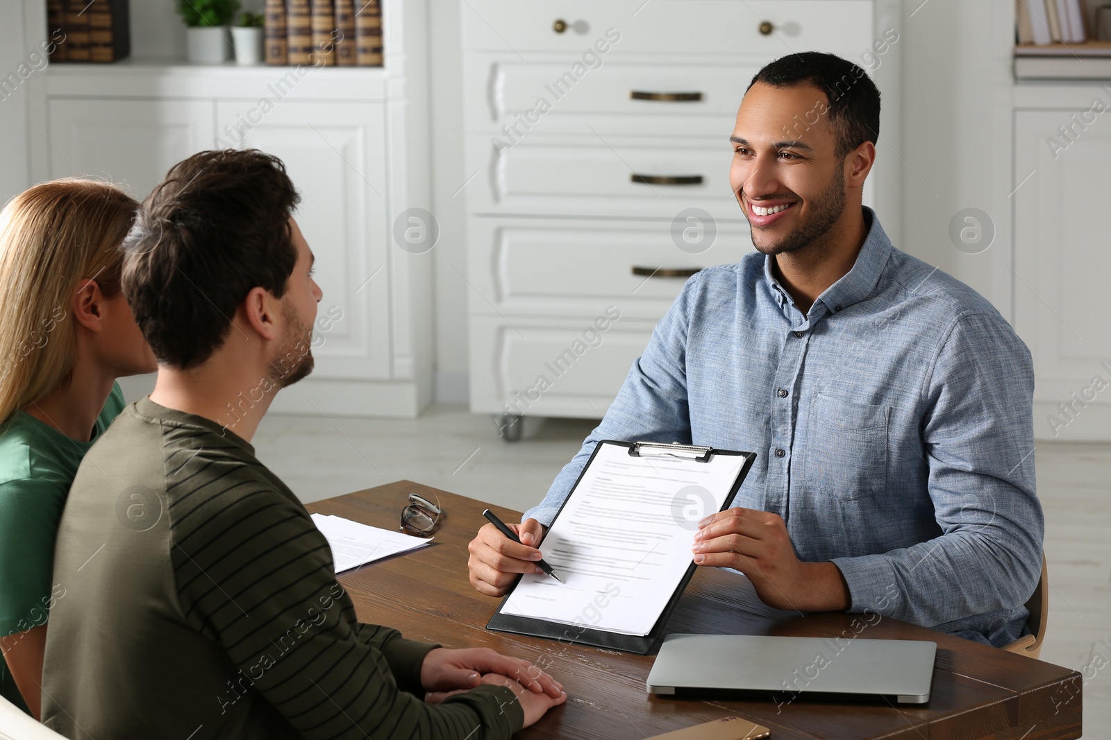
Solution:
{"label": "white cabinet at right edge, below the bookshelf", "polygon": [[1091,300],[1111,276],[1111,113],[1094,99],[1107,90],[1059,89],[1053,110],[1014,119],[1014,328],[1034,358],[1042,439],[1111,438],[1111,324]]}

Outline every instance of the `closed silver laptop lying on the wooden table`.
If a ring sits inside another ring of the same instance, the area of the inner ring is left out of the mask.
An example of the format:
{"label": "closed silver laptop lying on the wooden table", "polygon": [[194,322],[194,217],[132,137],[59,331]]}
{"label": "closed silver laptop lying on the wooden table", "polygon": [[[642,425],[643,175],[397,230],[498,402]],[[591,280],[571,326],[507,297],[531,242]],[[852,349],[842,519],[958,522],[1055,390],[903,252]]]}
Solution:
{"label": "closed silver laptop lying on the wooden table", "polygon": [[649,693],[771,693],[930,700],[937,642],[853,637],[669,635],[648,675]]}

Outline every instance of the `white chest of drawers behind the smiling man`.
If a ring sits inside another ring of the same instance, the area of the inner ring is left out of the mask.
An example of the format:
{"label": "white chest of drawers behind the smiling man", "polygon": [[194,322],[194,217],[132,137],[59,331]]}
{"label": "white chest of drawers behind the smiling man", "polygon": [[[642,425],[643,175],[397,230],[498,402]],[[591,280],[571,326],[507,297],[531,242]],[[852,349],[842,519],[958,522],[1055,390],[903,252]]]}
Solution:
{"label": "white chest of drawers behind the smiling man", "polygon": [[[752,249],[729,135],[753,74],[792,50],[859,61],[883,36],[875,9],[462,0],[460,13],[471,409],[600,417],[683,275]],[[692,246],[687,229],[717,236]],[[620,320],[556,377],[610,307]]]}

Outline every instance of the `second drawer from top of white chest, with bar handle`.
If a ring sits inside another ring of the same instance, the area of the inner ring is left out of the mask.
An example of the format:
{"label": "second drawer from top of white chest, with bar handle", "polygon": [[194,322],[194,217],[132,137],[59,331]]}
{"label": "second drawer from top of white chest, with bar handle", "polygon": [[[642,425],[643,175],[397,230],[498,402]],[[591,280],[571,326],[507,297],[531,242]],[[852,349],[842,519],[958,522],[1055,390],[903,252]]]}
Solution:
{"label": "second drawer from top of white chest, with bar handle", "polygon": [[[466,62],[464,101],[470,132],[499,132],[520,116],[540,133],[560,133],[599,116],[622,118],[627,133],[700,134],[727,139],[744,89],[758,64],[632,64],[607,62],[577,77],[559,61],[520,61],[516,57],[472,54]],[[705,119],[710,118],[710,121]],[[707,125],[708,124],[708,125]],[[520,125],[520,124],[519,124]]]}

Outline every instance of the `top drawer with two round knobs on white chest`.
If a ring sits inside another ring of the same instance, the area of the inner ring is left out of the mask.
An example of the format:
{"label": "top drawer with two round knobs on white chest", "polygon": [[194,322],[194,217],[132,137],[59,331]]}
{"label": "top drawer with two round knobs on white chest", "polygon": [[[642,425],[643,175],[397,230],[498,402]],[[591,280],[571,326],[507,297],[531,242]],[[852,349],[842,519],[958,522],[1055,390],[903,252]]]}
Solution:
{"label": "top drawer with two round knobs on white chest", "polygon": [[[870,0],[467,0],[464,51],[608,54],[859,54],[872,37]],[[567,23],[560,33],[557,21]],[[771,32],[761,33],[762,23]],[[612,30],[611,30],[612,29]],[[608,34],[609,33],[609,34]]]}

